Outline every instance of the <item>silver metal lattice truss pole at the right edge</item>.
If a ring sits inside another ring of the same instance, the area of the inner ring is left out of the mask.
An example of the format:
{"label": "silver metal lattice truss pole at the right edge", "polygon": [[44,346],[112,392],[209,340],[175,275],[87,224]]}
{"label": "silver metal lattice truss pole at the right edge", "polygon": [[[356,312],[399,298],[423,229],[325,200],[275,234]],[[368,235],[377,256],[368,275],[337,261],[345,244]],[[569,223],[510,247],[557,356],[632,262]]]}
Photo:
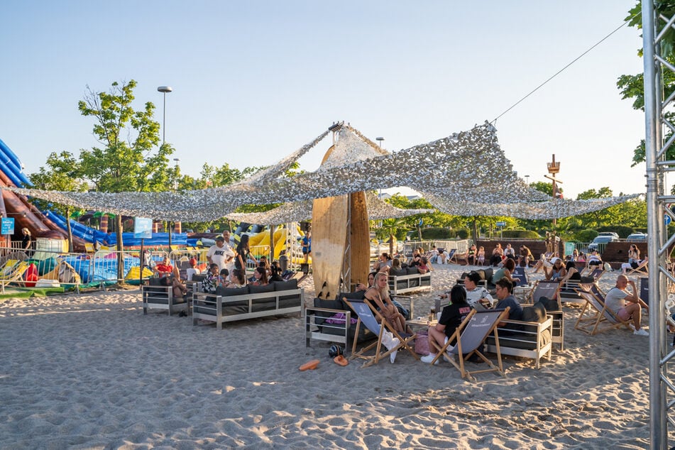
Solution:
{"label": "silver metal lattice truss pole at the right edge", "polygon": [[[672,18],[659,15],[664,27],[673,23]],[[664,109],[671,104],[669,98],[662,101],[662,71],[673,67],[666,63],[661,55],[657,17],[654,14],[653,0],[642,1],[642,48],[644,56],[644,125],[645,160],[647,163],[647,233],[649,242],[649,437],[652,449],[667,449],[668,424],[675,422],[668,417],[667,395],[674,395],[674,383],[669,380],[667,363],[675,356],[675,351],[666,354],[666,298],[670,275],[669,238],[664,224],[664,212],[668,209],[669,197],[664,194],[665,173],[675,165],[675,161],[666,160],[666,150],[670,143],[663,145],[662,126],[668,125],[664,119]],[[665,63],[665,64],[664,64]],[[671,127],[671,129],[674,129]],[[669,214],[670,212],[668,212]],[[671,214],[669,214],[671,215]],[[658,270],[654,270],[658,269]],[[667,274],[667,275],[666,275]]]}

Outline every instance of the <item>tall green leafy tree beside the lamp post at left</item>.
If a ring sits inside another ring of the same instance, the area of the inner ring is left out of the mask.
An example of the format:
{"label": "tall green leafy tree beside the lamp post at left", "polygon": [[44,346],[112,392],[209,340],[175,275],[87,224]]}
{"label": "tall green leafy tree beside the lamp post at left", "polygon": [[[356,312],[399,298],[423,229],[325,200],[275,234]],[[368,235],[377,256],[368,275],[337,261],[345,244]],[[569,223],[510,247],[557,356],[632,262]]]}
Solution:
{"label": "tall green leafy tree beside the lamp post at left", "polygon": [[[80,114],[93,117],[94,136],[101,147],[81,150],[80,175],[102,192],[150,192],[166,190],[173,148],[160,143],[160,125],[153,119],[155,105],[147,101],[138,111],[131,106],[136,82],[114,82],[109,92],[94,92],[87,86],[84,100],[78,102]],[[123,248],[122,216],[116,215],[117,245]],[[122,253],[117,264],[118,277],[124,277]]]}

